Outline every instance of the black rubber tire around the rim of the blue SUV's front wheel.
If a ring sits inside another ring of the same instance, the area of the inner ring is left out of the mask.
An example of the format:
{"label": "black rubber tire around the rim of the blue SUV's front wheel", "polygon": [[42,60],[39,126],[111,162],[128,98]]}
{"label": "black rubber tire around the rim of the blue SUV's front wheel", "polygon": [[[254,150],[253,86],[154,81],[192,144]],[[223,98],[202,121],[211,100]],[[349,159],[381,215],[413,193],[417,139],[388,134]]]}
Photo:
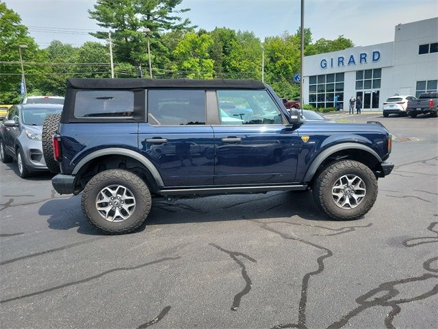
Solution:
{"label": "black rubber tire around the rim of the blue SUV's front wheel", "polygon": [[[357,175],[365,183],[367,190],[365,197],[356,208],[339,208],[333,200],[332,188],[343,175]],[[342,160],[322,170],[313,184],[312,191],[315,204],[332,219],[337,221],[359,219],[370,211],[376,202],[377,179],[365,164],[354,160]]]}

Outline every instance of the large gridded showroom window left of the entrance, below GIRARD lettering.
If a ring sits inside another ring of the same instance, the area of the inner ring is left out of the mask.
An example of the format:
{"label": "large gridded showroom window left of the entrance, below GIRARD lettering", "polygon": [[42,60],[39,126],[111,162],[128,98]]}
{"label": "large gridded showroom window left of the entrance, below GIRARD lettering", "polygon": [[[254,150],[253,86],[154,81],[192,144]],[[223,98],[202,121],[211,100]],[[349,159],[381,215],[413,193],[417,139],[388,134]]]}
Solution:
{"label": "large gridded showroom window left of the entrance, below GIRARD lettering", "polygon": [[333,108],[335,97],[344,102],[344,73],[311,75],[309,77],[309,104],[315,108]]}

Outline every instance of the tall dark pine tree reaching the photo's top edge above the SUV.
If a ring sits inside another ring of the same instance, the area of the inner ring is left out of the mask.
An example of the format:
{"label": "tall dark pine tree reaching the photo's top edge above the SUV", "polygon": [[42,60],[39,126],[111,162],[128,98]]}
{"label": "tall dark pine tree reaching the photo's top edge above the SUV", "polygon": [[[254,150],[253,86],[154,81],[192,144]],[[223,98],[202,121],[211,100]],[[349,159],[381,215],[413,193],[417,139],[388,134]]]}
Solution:
{"label": "tall dark pine tree reaching the photo's top edge above the SUV", "polygon": [[[135,66],[146,64],[146,36],[142,28],[151,30],[151,59],[162,64],[160,58],[168,54],[161,40],[162,32],[190,29],[190,20],[179,14],[189,9],[176,9],[183,0],[97,0],[94,10],[88,10],[98,25],[112,30],[114,56],[120,62]],[[96,38],[107,39],[107,32],[92,33]]]}

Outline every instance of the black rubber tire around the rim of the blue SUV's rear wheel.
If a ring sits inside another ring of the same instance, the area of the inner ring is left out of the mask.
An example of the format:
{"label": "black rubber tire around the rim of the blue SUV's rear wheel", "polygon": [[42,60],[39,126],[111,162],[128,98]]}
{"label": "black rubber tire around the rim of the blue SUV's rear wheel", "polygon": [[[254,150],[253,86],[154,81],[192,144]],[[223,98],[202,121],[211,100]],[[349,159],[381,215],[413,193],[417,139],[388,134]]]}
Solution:
{"label": "black rubber tire around the rim of the blue SUV's rear wheel", "polygon": [[[124,221],[107,221],[96,208],[96,197],[106,186],[120,184],[129,188],[136,200],[136,208]],[[135,173],[123,169],[101,171],[86,184],[83,189],[81,206],[88,221],[105,234],[127,234],[136,230],[146,220],[151,210],[152,199],[148,186]]]}

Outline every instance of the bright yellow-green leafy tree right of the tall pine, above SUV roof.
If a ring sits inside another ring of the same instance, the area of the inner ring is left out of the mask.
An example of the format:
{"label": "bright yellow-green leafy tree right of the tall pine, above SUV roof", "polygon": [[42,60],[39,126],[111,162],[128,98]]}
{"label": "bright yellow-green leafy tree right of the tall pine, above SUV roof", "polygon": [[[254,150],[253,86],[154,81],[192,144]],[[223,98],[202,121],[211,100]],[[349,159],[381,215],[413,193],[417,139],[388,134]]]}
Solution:
{"label": "bright yellow-green leafy tree right of the tall pine, above SUV roof", "polygon": [[174,69],[187,71],[189,79],[212,79],[214,60],[209,58],[209,48],[213,45],[209,34],[199,36],[196,33],[185,34],[173,55],[178,58]]}

